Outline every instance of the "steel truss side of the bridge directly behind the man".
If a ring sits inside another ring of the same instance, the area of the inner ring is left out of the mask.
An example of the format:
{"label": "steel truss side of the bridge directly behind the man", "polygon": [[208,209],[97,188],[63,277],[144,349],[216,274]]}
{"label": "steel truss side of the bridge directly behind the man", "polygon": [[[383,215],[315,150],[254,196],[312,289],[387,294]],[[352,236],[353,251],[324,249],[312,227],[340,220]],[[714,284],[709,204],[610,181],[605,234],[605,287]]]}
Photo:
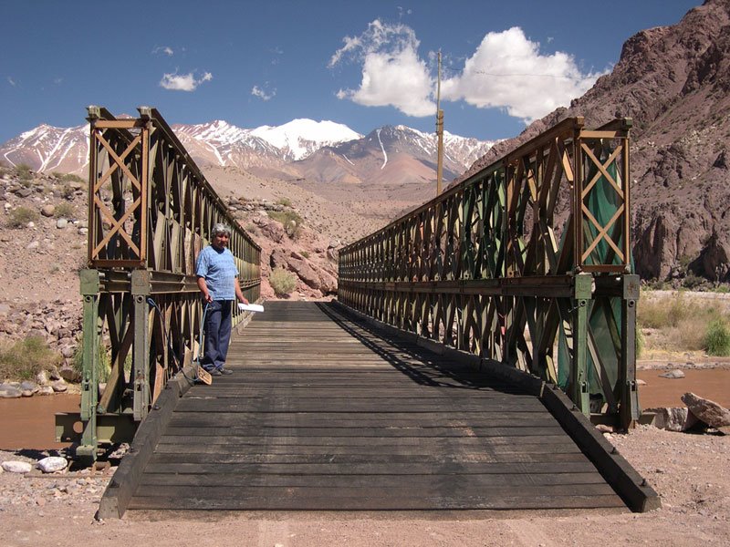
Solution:
{"label": "steel truss side of the bridge directly behind the man", "polygon": [[[168,379],[201,343],[197,253],[216,222],[246,298],[260,298],[260,248],[229,214],[154,108],[117,119],[89,107],[89,269],[83,295],[83,372],[77,450],[95,459],[99,442],[130,439]],[[244,315],[235,311],[235,323]],[[99,397],[99,382],[106,382]],[[72,436],[61,423],[57,437]]]}

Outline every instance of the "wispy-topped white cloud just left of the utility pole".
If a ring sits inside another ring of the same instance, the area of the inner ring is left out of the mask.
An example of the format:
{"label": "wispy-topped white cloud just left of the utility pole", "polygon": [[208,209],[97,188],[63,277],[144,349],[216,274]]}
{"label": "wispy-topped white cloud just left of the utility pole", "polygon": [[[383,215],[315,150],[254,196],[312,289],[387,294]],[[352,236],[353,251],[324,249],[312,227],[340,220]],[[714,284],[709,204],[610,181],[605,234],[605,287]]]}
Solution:
{"label": "wispy-topped white cloud just left of the utility pole", "polygon": [[368,107],[392,106],[408,116],[433,115],[433,78],[418,57],[419,41],[410,26],[376,19],[360,36],[342,41],[328,67],[349,59],[361,65],[362,79],[358,89],[339,89],[338,98]]}

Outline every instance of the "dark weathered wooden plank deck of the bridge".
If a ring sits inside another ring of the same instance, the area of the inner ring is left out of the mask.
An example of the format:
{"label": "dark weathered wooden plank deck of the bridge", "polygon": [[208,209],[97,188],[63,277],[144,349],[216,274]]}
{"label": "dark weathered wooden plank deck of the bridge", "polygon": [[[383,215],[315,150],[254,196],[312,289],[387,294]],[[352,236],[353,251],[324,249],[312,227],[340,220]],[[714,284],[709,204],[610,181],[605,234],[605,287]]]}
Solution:
{"label": "dark weathered wooden plank deck of the bridge", "polygon": [[266,304],[130,510],[625,508],[537,397],[322,303]]}

